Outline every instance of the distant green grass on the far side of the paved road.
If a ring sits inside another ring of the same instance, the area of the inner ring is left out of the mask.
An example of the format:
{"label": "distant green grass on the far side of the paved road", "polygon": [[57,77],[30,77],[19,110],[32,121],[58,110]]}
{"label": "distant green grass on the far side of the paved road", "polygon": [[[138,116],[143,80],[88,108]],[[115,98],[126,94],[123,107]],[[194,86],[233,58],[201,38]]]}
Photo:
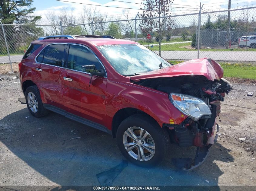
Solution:
{"label": "distant green grass on the far side of the paved road", "polygon": [[[164,43],[165,41],[161,42]],[[177,41],[180,42],[180,41]],[[188,48],[184,48],[182,46],[191,46],[191,43],[178,43],[178,44],[163,44],[161,45],[161,50],[182,50],[182,51],[197,51],[197,49],[193,48],[193,49],[188,49]],[[149,49],[151,50],[159,50],[159,46],[156,45],[153,48],[150,47],[149,44]],[[237,48],[237,49],[200,49],[201,51],[247,51],[246,49],[241,49],[241,48]],[[256,51],[256,49],[252,49],[252,48],[248,48],[248,51]]]}

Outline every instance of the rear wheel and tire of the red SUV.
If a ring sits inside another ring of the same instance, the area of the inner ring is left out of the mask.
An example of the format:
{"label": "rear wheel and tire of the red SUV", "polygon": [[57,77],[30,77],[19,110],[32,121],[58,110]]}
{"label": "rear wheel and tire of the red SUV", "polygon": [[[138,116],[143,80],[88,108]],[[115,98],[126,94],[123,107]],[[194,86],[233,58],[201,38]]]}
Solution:
{"label": "rear wheel and tire of the red SUV", "polygon": [[37,86],[29,86],[25,91],[28,111],[35,117],[45,116],[48,111],[44,108]]}

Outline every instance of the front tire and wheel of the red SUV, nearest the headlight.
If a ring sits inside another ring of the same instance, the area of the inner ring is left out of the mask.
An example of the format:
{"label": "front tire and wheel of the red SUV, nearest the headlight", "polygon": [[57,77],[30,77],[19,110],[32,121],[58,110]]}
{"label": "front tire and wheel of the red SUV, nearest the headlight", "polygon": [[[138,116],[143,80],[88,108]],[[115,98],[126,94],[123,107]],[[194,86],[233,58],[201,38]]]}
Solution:
{"label": "front tire and wheel of the red SUV, nearest the headlight", "polygon": [[160,164],[168,153],[170,138],[166,129],[146,115],[126,118],[117,129],[121,153],[131,163],[141,167]]}

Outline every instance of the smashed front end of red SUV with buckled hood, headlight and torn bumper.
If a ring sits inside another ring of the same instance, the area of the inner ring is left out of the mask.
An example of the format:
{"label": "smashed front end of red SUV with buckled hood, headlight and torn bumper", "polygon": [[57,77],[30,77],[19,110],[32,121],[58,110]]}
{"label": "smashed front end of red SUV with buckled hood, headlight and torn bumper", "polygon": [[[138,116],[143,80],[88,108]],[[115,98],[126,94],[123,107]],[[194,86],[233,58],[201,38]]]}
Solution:
{"label": "smashed front end of red SUV with buckled hood, headlight and torn bumper", "polygon": [[[158,77],[136,77],[137,81],[134,79],[134,83],[167,93],[170,102],[182,113],[184,120],[181,123],[170,119],[163,127],[169,129],[171,139],[179,146],[197,146],[194,159],[172,159],[176,167],[191,170],[204,162],[214,140],[218,138],[217,117],[221,112],[220,103],[232,86],[222,78],[223,70],[220,65],[211,59],[196,59],[184,63],[181,63],[181,67],[175,65],[174,69],[162,72]],[[200,71],[190,72],[191,66]]]}

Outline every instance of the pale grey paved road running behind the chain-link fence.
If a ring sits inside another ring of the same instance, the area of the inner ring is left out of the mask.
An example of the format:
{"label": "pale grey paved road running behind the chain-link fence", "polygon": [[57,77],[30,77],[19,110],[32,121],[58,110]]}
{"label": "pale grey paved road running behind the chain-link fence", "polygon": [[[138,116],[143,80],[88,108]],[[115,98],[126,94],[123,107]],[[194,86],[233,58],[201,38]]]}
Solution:
{"label": "pale grey paved road running behind the chain-link fence", "polygon": [[[179,42],[178,42],[179,43]],[[159,51],[155,51],[159,53]],[[161,56],[168,60],[191,60],[197,58],[197,51],[161,51]],[[23,55],[10,56],[12,62],[20,62]],[[200,58],[208,57],[216,61],[256,61],[254,51],[201,51]],[[0,63],[9,63],[8,56],[1,56]]]}

